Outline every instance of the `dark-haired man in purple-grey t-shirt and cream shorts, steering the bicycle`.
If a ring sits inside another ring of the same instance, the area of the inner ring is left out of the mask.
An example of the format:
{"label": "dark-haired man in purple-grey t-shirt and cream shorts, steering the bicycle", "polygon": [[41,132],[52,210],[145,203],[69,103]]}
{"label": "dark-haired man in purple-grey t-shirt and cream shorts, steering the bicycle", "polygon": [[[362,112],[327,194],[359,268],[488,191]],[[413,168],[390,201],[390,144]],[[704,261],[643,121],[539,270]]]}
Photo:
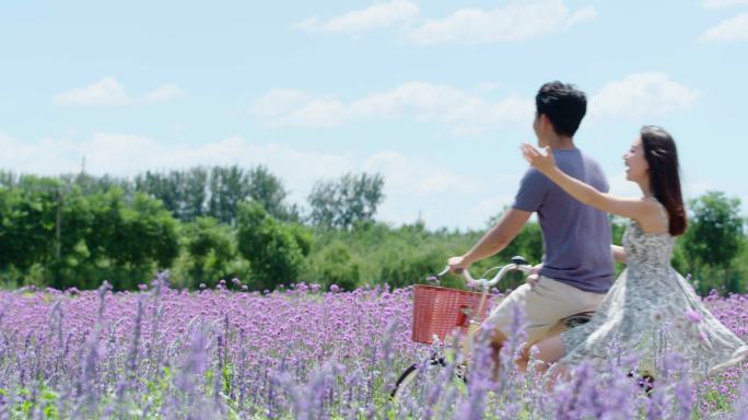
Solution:
{"label": "dark-haired man in purple-grey t-shirt and cream shorts, steering the bicycle", "polygon": [[[584,92],[558,81],[546,83],[535,103],[533,128],[538,147],[550,147],[566,174],[608,191],[599,164],[574,144],[574,133],[587,110]],[[613,280],[608,215],[574,200],[533,167],[522,178],[512,208],[472,249],[449,258],[451,270],[459,272],[504,249],[534,212],[542,231],[542,264],[489,315],[496,326],[491,342],[496,355],[509,334],[514,305],[525,311],[527,338],[533,343],[559,319],[595,311]]]}

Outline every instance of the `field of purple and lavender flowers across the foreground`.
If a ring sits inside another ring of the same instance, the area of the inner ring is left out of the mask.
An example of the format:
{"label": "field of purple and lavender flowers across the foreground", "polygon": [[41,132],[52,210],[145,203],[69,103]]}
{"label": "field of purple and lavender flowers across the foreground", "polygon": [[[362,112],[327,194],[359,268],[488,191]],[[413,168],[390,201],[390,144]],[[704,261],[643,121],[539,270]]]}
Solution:
{"label": "field of purple and lavender flowers across the foreground", "polygon": [[[748,418],[746,365],[691,383],[673,352],[647,397],[627,376],[635,355],[617,354],[606,374],[583,365],[551,386],[510,368],[522,334],[499,382],[478,342],[467,385],[447,354],[393,401],[399,372],[432,351],[410,341],[411,293],[301,283],[261,294],[238,280],[186,292],[165,276],[137,293],[3,291],[0,419]],[[748,339],[748,298],[705,300]]]}

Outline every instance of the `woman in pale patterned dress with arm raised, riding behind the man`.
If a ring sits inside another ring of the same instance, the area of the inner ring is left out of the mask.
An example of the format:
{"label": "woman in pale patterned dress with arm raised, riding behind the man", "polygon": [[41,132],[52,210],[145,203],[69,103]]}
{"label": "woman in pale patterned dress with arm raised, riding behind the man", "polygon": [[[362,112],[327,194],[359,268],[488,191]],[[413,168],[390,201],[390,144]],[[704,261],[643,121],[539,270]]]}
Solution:
{"label": "woman in pale patterned dress with arm raised, riding behind the man", "polygon": [[643,197],[621,198],[581,183],[554,164],[552,153],[523,144],[525,159],[585,205],[630,218],[623,246],[613,246],[627,269],[609,290],[589,323],[538,343],[537,358],[562,365],[605,361],[611,342],[622,351],[642,351],[640,370],[656,375],[656,354],[681,352],[690,373],[710,374],[739,363],[748,347],[722,325],[688,282],[670,266],[675,237],[687,221],[673,138],[658,127],[644,127],[623,155],[627,179]]}

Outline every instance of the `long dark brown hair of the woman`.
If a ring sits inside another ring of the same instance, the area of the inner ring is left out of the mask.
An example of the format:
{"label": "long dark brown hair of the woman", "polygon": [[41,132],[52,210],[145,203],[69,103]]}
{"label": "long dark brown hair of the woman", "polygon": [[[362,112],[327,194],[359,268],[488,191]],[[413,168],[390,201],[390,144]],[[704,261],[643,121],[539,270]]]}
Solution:
{"label": "long dark brown hair of the woman", "polygon": [[652,192],[667,210],[670,235],[682,235],[688,222],[680,191],[678,149],[673,137],[661,127],[642,127],[641,137],[644,156],[650,165]]}

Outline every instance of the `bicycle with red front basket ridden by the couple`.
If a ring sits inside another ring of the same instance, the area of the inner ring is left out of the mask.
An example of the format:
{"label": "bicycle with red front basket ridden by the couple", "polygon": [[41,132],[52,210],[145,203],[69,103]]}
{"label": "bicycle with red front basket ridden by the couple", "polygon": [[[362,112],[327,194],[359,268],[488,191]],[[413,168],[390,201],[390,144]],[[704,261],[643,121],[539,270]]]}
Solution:
{"label": "bicycle with red front basket ridden by the couple", "polygon": [[[484,277],[493,271],[499,270],[496,275],[490,280]],[[496,285],[511,271],[522,271],[529,273],[531,266],[521,256],[512,258],[512,262],[505,266],[493,267],[486,271],[480,279],[472,278],[470,272],[465,269],[461,275],[468,285],[480,285],[480,292],[469,292],[458,289],[449,289],[426,284],[417,284],[413,287],[413,327],[411,339],[416,342],[425,345],[433,345],[434,338],[439,340],[442,347],[455,346],[449,341],[449,337],[455,329],[463,332],[463,340],[460,342],[463,354],[470,354],[472,351],[471,337],[478,331],[482,320],[487,316],[488,295],[489,290]],[[436,278],[445,276],[449,272],[447,266],[444,270],[437,273]],[[566,329],[586,324],[592,318],[594,312],[581,312],[568,317],[559,319],[551,326],[542,337],[529,342],[531,346],[539,340],[563,332]],[[394,385],[390,393],[390,398],[397,399],[405,389],[416,380],[421,371],[421,366],[437,366],[445,368],[447,365],[443,357],[439,354],[442,352],[434,352],[426,363],[414,363],[408,366]],[[467,376],[464,372],[457,372],[457,376],[467,382]]]}

